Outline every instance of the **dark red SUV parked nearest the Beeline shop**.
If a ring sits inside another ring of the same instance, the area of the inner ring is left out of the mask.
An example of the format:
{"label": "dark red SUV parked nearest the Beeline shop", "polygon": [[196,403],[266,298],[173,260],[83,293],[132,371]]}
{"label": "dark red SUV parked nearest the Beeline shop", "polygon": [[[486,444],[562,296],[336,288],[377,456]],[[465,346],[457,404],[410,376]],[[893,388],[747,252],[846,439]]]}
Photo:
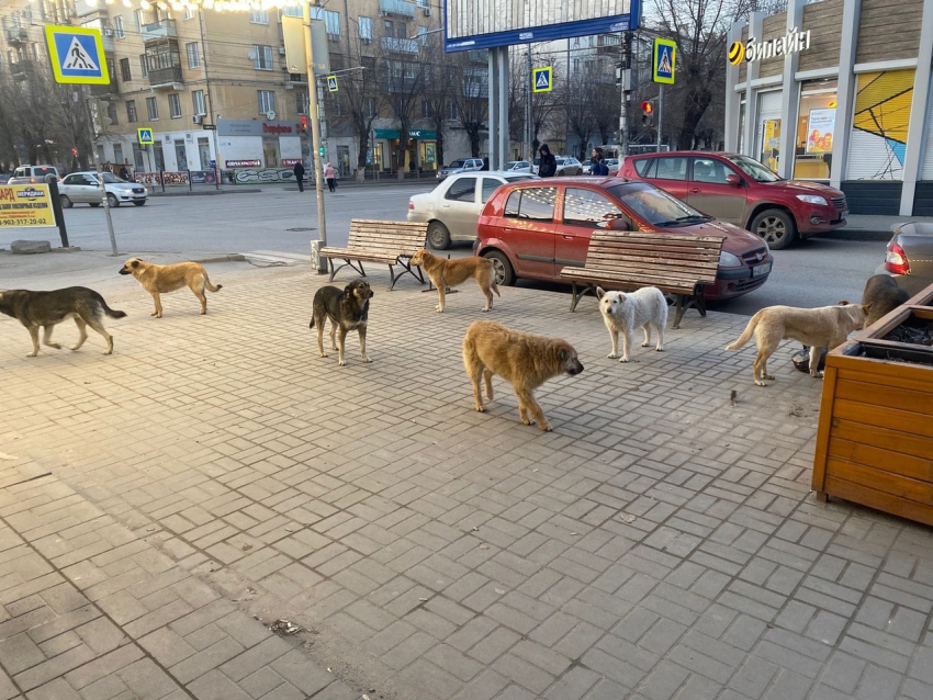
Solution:
{"label": "dark red SUV parked nearest the Beeline shop", "polygon": [[799,236],[845,226],[845,194],[819,182],[784,180],[757,160],[692,150],[629,156],[622,177],[647,180],[690,206],[761,236],[772,250]]}

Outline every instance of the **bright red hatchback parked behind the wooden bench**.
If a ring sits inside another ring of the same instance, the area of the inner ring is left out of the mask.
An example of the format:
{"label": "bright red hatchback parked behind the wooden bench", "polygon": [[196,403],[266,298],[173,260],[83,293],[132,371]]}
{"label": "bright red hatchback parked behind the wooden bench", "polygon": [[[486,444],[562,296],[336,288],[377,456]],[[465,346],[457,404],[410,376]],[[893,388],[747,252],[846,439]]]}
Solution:
{"label": "bright red hatchback parked behind the wooden bench", "polygon": [[700,214],[649,182],[604,178],[558,178],[510,183],[483,210],[476,255],[493,261],[496,282],[516,278],[561,282],[564,267],[583,267],[594,228],[724,236],[710,300],[741,296],[762,286],[773,259],[760,237]]}

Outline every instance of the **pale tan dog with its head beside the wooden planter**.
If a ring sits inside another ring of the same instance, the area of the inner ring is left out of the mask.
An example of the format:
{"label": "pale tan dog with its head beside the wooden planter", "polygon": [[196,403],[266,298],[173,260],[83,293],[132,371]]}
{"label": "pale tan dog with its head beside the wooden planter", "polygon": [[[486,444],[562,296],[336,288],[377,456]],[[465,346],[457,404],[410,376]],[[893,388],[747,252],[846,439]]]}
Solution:
{"label": "pale tan dog with its head beside the wooden planter", "polygon": [[767,373],[767,359],[782,340],[798,340],[810,346],[810,376],[819,379],[823,375],[818,369],[823,348],[832,350],[845,342],[848,334],[862,328],[870,308],[872,304],[848,303],[819,308],[768,306],[752,316],[744,332],[726,349],[738,350],[754,336],[758,347],[752,364],[755,384],[767,386],[764,381],[774,379]]}

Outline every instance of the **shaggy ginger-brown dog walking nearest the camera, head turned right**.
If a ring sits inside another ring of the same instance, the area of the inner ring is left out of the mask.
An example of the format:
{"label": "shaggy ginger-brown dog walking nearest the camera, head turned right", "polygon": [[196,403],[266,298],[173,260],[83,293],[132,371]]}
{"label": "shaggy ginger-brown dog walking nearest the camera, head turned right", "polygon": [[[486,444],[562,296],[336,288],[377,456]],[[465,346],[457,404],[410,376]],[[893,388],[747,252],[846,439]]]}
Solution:
{"label": "shaggy ginger-brown dog walking nearest the camera, head turned right", "polygon": [[530,413],[546,432],[551,424],[535,400],[535,389],[564,372],[571,376],[583,372],[576,350],[567,341],[519,332],[493,320],[470,324],[463,337],[463,365],[473,382],[476,410],[486,410],[480,396],[480,376],[485,377],[486,399],[493,400],[493,374],[498,374],[512,383],[518,396],[521,422],[532,425]]}

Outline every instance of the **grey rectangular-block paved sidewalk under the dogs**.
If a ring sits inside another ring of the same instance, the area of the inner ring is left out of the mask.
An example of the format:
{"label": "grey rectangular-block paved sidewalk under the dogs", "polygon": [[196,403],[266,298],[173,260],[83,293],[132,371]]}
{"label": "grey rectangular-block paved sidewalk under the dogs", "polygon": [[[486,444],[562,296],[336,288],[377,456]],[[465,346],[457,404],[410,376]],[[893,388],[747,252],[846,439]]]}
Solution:
{"label": "grey rectangular-block paved sidewalk under the dogs", "polygon": [[[723,350],[744,317],[621,364],[592,300],[506,289],[486,316],[464,286],[440,315],[374,273],[373,362],[350,338],[339,368],[307,328],[325,280],[255,274],[206,317],[140,292],[108,358],[27,360],[0,320],[0,699],[933,697],[930,529],[814,501],[791,346],[760,388]],[[554,432],[498,380],[473,410],[480,317],[576,347],[538,393]]]}

